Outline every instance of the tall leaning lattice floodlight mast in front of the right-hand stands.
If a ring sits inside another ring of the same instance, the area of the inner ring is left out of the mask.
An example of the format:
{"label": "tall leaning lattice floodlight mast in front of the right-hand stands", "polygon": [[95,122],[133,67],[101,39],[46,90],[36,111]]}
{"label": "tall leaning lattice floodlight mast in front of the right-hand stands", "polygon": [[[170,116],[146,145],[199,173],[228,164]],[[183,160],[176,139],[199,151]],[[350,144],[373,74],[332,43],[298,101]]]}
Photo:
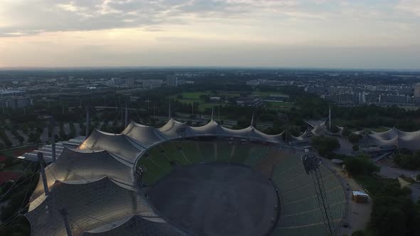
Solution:
{"label": "tall leaning lattice floodlight mast in front of the right-hand stands", "polygon": [[325,192],[324,181],[322,181],[322,174],[320,171],[321,159],[314,154],[303,154],[301,157],[305,173],[312,177],[315,186],[315,194],[317,195],[318,203],[322,208],[322,220],[326,230],[332,235],[332,225],[330,216],[330,205],[328,203],[327,194]]}

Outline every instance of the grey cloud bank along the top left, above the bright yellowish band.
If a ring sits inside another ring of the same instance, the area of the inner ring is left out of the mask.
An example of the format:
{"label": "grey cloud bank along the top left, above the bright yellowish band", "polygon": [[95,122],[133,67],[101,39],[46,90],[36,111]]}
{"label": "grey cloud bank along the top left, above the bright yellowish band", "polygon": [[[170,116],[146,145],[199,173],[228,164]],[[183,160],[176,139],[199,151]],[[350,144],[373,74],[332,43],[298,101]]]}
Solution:
{"label": "grey cloud bank along the top left, above the bright yellowish band", "polygon": [[[298,0],[4,0],[0,36],[108,28],[157,28],[197,20],[228,21],[277,14],[286,18],[322,18],[300,9]],[[320,0],[311,1],[320,4]]]}

